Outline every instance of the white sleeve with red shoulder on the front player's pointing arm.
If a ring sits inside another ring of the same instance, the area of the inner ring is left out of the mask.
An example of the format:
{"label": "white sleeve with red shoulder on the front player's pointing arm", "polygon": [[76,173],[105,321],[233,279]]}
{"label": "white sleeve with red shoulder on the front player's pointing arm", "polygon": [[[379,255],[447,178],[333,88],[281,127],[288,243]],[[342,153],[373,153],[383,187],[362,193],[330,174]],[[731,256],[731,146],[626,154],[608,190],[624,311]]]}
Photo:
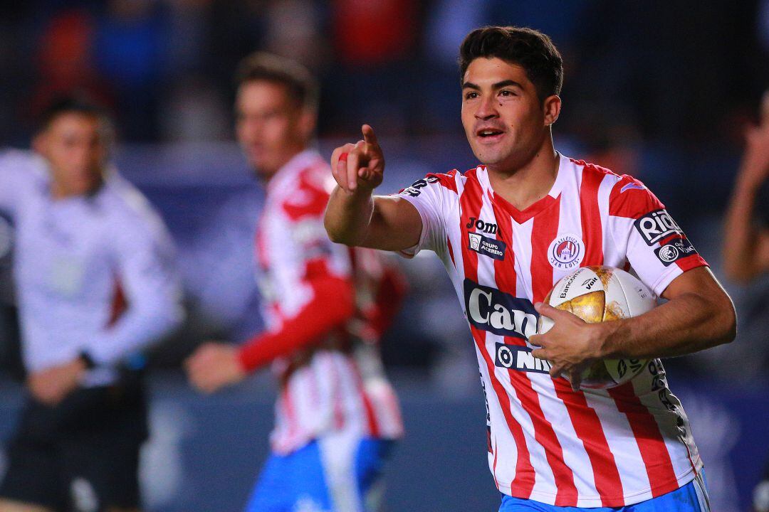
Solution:
{"label": "white sleeve with red shoulder on the front player's pointing arm", "polygon": [[417,209],[422,221],[419,242],[401,251],[403,256],[413,257],[422,249],[440,252],[445,246],[445,212],[451,199],[456,201],[458,197],[456,175],[457,170],[451,170],[449,173],[430,173],[397,194]]}

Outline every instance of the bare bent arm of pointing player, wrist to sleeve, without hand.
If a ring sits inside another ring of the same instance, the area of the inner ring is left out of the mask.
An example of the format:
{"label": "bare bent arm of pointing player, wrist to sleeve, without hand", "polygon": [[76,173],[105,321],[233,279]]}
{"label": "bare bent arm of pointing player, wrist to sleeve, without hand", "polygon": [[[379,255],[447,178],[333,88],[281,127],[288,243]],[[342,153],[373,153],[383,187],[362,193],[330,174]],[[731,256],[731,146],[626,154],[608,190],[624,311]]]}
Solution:
{"label": "bare bent arm of pointing player, wrist to sleeve, without hand", "polygon": [[421,216],[408,200],[341,187],[331,193],[324,225],[332,242],[388,251],[417,245],[422,230]]}

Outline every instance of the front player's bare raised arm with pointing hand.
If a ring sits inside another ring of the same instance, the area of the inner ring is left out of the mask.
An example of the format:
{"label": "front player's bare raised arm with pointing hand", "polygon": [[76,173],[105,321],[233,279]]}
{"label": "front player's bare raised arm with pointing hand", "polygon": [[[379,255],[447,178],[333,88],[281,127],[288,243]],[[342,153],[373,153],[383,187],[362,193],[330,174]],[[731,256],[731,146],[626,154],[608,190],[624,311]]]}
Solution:
{"label": "front player's bare raised arm with pointing hand", "polygon": [[364,124],[362,131],[363,140],[331,154],[337,187],[325,213],[328,237],[348,246],[408,249],[419,242],[421,217],[400,197],[372,196],[384,176],[384,154],[374,129]]}

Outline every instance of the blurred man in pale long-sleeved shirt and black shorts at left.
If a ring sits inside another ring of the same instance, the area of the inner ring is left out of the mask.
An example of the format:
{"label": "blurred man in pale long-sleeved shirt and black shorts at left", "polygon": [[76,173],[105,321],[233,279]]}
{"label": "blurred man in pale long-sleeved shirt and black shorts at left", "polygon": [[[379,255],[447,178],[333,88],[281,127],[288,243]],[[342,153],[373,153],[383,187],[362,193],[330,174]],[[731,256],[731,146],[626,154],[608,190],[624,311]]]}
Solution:
{"label": "blurred man in pale long-sleeved shirt and black shorts at left", "polygon": [[112,125],[87,101],[45,112],[35,152],[0,156],[15,225],[28,396],[0,510],[138,510],[145,398],[131,369],[181,321],[171,240],[108,167]]}

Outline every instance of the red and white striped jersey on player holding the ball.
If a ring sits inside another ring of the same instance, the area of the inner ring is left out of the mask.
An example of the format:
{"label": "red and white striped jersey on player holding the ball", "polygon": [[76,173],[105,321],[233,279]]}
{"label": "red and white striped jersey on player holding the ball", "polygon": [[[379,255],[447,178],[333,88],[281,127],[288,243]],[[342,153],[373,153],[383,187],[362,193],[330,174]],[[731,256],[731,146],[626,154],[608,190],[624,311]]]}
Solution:
{"label": "red and white striped jersey on player holding the ball", "polygon": [[[526,210],[494,194],[484,166],[401,190],[422,220],[470,324],[487,402],[488,461],[504,494],[621,507],[686,484],[702,461],[659,360],[631,382],[571,391],[531,356],[533,303],[579,266],[631,267],[659,296],[707,265],[643,183],[560,157],[550,193]],[[498,351],[514,354],[501,360]]]}

